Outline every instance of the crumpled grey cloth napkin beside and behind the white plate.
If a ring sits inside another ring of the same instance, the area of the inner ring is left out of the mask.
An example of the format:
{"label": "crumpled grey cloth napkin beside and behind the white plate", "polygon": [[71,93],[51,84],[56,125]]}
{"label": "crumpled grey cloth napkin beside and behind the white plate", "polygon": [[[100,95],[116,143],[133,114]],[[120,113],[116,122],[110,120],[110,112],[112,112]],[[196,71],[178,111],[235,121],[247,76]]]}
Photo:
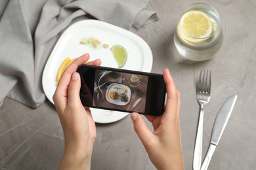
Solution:
{"label": "crumpled grey cloth napkin beside and behind the white plate", "polygon": [[0,105],[6,96],[33,108],[45,101],[43,69],[69,25],[96,19],[135,32],[158,20],[148,1],[1,0]]}

